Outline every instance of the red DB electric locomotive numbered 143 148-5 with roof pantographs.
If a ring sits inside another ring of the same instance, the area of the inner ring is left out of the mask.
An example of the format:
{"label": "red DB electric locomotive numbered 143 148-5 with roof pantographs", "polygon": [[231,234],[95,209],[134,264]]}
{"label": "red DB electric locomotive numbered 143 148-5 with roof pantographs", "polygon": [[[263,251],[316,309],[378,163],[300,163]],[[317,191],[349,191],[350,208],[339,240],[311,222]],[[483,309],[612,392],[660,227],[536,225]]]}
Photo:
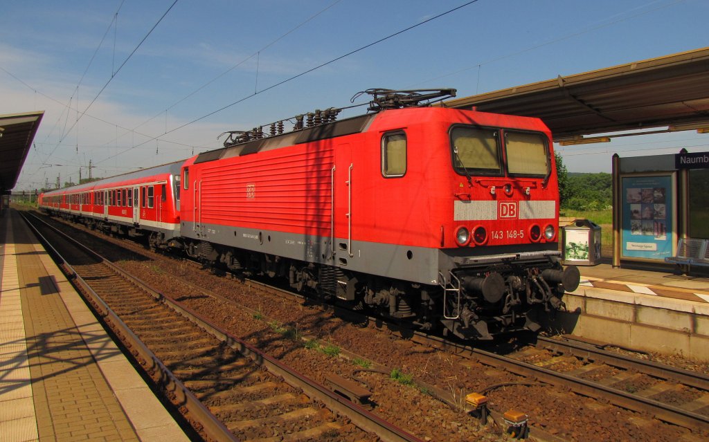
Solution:
{"label": "red DB electric locomotive numbered 143 148-5 with roof pantographs", "polygon": [[559,262],[559,192],[537,118],[368,91],[337,110],[229,132],[182,165],[187,254],[462,339],[538,329],[579,271]]}

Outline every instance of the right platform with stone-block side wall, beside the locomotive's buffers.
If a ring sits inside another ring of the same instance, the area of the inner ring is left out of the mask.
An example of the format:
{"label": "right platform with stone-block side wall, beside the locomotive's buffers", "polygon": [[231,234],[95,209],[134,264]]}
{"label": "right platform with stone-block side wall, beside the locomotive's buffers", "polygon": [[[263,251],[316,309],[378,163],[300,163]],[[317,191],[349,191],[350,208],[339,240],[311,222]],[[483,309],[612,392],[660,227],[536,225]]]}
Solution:
{"label": "right platform with stone-block side wall, beside the locomotive's buffers", "polygon": [[581,283],[563,297],[550,329],[634,351],[709,361],[709,277],[671,266],[610,260],[579,266]]}

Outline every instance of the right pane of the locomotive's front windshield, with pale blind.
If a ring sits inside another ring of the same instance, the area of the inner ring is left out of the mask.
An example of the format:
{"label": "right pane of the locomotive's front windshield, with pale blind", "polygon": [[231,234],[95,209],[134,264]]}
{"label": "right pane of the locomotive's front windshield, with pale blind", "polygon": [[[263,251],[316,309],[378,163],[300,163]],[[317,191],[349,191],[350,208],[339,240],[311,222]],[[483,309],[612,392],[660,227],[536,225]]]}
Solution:
{"label": "right pane of the locomotive's front windshield, with pale blind", "polygon": [[546,137],[535,132],[505,132],[507,171],[510,176],[547,176]]}

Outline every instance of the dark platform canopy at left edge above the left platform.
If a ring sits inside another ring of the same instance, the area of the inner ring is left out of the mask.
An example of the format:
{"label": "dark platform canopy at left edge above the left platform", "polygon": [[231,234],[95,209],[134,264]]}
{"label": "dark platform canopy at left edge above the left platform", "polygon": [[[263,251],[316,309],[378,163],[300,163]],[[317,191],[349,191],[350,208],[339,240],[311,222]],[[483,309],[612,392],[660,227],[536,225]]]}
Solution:
{"label": "dark platform canopy at left edge above the left platform", "polygon": [[0,194],[15,187],[44,111],[0,115]]}

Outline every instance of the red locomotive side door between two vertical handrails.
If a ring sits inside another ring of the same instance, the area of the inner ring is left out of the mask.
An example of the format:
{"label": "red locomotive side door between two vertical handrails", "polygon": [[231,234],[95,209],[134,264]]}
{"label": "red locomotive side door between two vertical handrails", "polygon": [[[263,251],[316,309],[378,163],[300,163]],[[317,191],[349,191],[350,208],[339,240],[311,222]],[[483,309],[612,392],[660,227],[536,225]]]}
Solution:
{"label": "red locomotive side door between two vertical handrails", "polygon": [[335,150],[333,167],[333,253],[341,265],[347,264],[352,254],[352,147],[339,145]]}

